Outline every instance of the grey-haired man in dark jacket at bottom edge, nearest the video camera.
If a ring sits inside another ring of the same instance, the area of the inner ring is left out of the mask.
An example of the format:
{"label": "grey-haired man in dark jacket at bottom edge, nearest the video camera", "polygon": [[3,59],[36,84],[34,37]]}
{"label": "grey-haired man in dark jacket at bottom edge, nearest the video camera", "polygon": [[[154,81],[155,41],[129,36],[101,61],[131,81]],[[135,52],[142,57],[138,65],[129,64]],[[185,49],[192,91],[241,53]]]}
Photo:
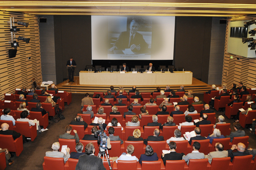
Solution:
{"label": "grey-haired man in dark jacket at bottom edge, nearest the video camera", "polygon": [[[98,148],[97,148],[98,149]],[[79,157],[76,170],[106,170],[100,157],[94,155],[93,143],[85,146],[85,154]]]}

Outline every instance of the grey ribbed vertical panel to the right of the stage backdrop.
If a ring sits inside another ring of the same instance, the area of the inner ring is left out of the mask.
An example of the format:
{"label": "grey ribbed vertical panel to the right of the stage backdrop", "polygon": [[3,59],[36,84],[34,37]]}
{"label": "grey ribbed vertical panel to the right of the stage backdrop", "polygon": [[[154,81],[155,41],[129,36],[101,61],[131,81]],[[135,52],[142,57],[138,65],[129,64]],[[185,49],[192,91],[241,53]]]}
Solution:
{"label": "grey ribbed vertical panel to the right of the stage backdrop", "polygon": [[222,17],[213,17],[208,84],[221,84],[226,24]]}

